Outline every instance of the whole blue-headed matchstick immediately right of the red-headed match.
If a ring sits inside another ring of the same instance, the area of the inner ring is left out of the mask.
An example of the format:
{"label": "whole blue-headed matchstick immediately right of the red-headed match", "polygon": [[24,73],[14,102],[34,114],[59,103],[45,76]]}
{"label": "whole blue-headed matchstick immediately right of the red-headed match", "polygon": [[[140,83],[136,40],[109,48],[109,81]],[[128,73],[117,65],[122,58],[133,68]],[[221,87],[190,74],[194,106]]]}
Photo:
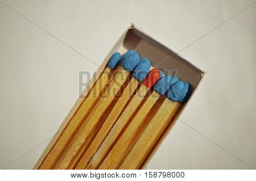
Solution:
{"label": "whole blue-headed matchstick immediately right of the red-headed match", "polygon": [[146,102],[144,102],[142,107],[139,108],[139,111],[133,117],[133,120],[131,120],[131,123],[126,128],[125,132],[123,132],[113,149],[110,150],[109,154],[106,156],[98,169],[105,170],[118,168],[119,164],[122,163],[122,160],[125,158],[126,149],[131,145],[131,142],[133,142],[135,131],[137,131],[139,125],[143,123],[144,117],[154,106],[159,97],[164,95],[172,83],[174,83],[173,81],[174,79],[170,75],[167,75],[163,76],[158,82],[156,82],[154,87],[155,91],[152,91],[150,96],[148,96],[146,99]]}

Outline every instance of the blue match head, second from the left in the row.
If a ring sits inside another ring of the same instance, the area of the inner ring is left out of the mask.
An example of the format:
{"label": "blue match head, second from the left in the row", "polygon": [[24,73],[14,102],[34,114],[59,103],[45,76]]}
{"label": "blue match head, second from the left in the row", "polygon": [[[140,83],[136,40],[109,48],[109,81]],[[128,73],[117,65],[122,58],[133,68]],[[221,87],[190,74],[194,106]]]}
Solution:
{"label": "blue match head, second from the left in the row", "polygon": [[133,71],[135,66],[139,64],[139,54],[137,52],[127,54],[127,56],[123,57],[121,61],[121,66],[127,71]]}

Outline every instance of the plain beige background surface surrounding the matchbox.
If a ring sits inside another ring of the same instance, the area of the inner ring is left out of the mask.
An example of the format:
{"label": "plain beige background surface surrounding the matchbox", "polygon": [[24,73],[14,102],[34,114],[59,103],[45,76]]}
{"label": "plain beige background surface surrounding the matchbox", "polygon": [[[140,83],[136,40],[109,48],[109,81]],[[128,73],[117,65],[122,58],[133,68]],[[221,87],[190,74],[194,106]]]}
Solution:
{"label": "plain beige background surface surrounding the matchbox", "polygon": [[[131,22],[179,51],[251,2],[0,0],[0,168],[35,165]],[[255,31],[256,3],[180,52],[208,73],[148,169],[256,167]]]}

